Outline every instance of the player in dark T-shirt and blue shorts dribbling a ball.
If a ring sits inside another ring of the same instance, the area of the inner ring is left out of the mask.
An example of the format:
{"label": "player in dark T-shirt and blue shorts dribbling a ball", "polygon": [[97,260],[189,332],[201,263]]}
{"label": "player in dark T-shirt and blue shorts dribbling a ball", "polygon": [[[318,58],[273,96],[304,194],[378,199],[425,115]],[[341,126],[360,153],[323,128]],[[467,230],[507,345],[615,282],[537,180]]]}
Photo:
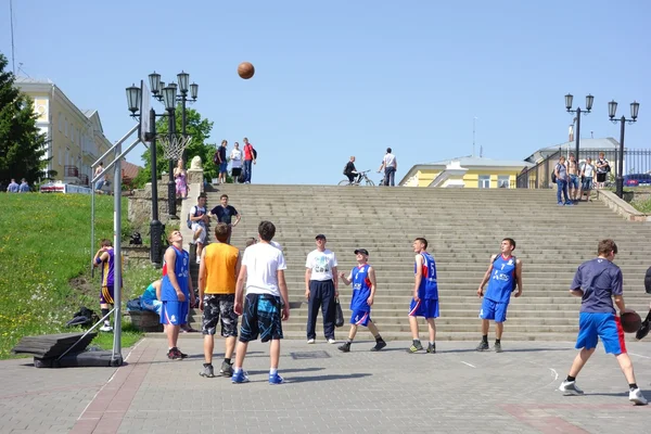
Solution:
{"label": "player in dark T-shirt and blue shorts dribbling a ball", "polygon": [[583,391],[576,386],[576,375],[595,353],[601,339],[605,353],[615,355],[628,381],[628,400],[635,405],[646,405],[647,399],[635,381],[633,362],[626,353],[624,330],[613,306],[614,298],[620,314],[630,310],[626,309],[622,296],[622,270],[613,264],[617,245],[613,240],[602,240],[597,253],[597,258],[578,267],[570,288],[572,295],[582,297],[576,340],[576,348],[580,348],[580,353],[574,358],[567,379],[561,383],[559,390],[564,395],[583,395]]}

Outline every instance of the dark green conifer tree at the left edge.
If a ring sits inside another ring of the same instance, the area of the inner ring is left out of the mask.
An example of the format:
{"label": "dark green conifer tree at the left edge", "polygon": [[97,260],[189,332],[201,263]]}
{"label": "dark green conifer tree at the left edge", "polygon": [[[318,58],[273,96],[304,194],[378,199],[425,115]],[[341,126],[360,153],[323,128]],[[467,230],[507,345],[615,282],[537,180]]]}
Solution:
{"label": "dark green conifer tree at the left edge", "polygon": [[33,184],[56,173],[43,173],[47,137],[36,126],[31,99],[14,86],[15,76],[7,65],[7,56],[0,53],[0,181],[25,178]]}

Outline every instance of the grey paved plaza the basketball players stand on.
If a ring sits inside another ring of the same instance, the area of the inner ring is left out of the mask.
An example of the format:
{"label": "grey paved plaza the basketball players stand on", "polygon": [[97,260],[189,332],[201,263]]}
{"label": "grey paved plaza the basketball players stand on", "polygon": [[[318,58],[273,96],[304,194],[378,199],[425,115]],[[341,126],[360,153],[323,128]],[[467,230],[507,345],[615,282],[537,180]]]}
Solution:
{"label": "grey paved plaza the basketball players stand on", "polygon": [[[509,342],[508,330],[501,354],[476,353],[471,342],[441,342],[435,355],[410,355],[406,342],[380,353],[359,342],[342,354],[323,341],[283,341],[286,384],[273,386],[268,345],[250,345],[251,382],[231,384],[200,376],[202,340],[183,337],[190,357],[182,361],[168,360],[157,339],[125,349],[127,365],[118,369],[1,361],[0,432],[607,433],[644,432],[651,420],[651,406],[628,403],[624,376],[601,347],[577,380],[586,396],[564,397],[557,387],[573,344]],[[651,345],[630,342],[628,350],[650,398]]]}

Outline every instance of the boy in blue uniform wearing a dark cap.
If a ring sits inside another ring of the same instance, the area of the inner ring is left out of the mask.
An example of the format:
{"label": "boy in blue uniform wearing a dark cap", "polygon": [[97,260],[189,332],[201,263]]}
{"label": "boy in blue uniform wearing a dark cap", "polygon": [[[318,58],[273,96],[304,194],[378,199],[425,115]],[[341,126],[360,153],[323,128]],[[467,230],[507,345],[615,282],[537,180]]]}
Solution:
{"label": "boy in blue uniform wearing a dark cap", "polygon": [[346,285],[353,283],[353,298],[350,298],[353,315],[350,316],[348,340],[339,349],[348,353],[355,334],[357,334],[357,326],[363,326],[368,327],[375,337],[375,346],[371,348],[371,352],[379,352],[386,346],[386,342],[380,335],[375,323],[371,321],[371,306],[375,298],[375,270],[368,264],[369,252],[366,248],[357,248],[355,258],[357,267],[353,268],[350,275],[346,277],[344,272],[340,273],[340,278]]}

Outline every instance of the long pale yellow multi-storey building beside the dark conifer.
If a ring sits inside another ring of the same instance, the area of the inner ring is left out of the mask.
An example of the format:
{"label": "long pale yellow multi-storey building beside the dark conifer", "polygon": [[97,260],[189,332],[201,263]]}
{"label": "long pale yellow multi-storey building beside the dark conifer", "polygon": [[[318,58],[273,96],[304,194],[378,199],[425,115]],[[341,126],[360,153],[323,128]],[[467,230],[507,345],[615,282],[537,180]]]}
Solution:
{"label": "long pale yellow multi-storey building beside the dark conifer", "polygon": [[37,127],[48,139],[48,170],[56,170],[56,180],[88,186],[92,163],[111,148],[98,112],[79,110],[50,80],[16,77],[15,84],[34,100]]}

